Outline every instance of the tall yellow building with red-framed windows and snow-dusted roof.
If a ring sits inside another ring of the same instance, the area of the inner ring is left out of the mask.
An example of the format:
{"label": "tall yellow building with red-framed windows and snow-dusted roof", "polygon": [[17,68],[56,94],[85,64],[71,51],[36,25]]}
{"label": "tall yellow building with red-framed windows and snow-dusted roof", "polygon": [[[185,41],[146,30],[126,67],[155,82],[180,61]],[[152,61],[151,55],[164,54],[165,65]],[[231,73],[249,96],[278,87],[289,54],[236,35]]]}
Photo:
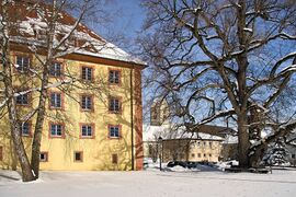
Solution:
{"label": "tall yellow building with red-framed windows and snow-dusted roof", "polygon": [[[61,19],[64,27],[73,23],[67,14]],[[44,25],[41,21],[34,13],[30,18],[23,15],[22,35],[39,39]],[[56,59],[50,68],[41,170],[141,170],[141,70],[145,62],[83,25],[73,37],[73,45],[86,40],[91,40],[91,45]],[[42,53],[39,55],[44,58]],[[23,92],[38,86],[41,81],[32,70],[37,70],[39,61],[29,44],[13,38],[11,59],[15,65],[13,83],[21,92],[15,97],[18,112],[24,117],[37,105],[37,91]],[[2,169],[16,166],[5,111],[1,111],[0,119]],[[29,154],[35,121],[35,116],[27,121],[20,118]]]}

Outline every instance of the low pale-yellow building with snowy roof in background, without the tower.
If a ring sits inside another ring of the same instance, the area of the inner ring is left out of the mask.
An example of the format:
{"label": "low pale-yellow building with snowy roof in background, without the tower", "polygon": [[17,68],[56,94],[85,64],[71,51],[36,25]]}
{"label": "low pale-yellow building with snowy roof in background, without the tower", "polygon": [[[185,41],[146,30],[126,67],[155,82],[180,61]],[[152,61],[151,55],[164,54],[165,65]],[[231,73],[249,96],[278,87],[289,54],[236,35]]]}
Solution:
{"label": "low pale-yellow building with snowy roof in background, without the tower", "polygon": [[[213,126],[203,126],[203,128]],[[205,130],[206,131],[206,130]],[[159,137],[162,139],[159,140]],[[223,155],[225,138],[200,130],[187,132],[173,126],[144,126],[144,157],[156,161],[159,154],[163,162],[218,162]]]}

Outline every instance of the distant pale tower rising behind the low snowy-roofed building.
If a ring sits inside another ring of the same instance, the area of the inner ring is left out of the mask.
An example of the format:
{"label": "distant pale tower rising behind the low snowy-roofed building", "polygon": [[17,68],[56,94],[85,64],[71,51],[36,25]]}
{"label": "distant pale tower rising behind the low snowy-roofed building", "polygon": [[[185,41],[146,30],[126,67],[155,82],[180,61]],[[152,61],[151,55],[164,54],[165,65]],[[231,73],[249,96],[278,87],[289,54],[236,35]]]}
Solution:
{"label": "distant pale tower rising behind the low snowy-roofed building", "polygon": [[150,125],[162,126],[169,124],[169,105],[166,100],[155,100],[150,108]]}

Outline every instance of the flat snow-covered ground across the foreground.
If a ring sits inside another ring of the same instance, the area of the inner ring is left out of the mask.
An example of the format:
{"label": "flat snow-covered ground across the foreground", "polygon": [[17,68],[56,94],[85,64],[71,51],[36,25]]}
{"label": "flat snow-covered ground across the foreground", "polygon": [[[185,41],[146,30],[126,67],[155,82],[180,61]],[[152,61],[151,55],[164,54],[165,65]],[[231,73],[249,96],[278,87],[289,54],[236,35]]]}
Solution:
{"label": "flat snow-covered ground across the foreground", "polygon": [[19,174],[0,171],[0,197],[294,197],[296,171],[273,174],[221,171],[159,172],[42,172],[35,183],[18,181]]}

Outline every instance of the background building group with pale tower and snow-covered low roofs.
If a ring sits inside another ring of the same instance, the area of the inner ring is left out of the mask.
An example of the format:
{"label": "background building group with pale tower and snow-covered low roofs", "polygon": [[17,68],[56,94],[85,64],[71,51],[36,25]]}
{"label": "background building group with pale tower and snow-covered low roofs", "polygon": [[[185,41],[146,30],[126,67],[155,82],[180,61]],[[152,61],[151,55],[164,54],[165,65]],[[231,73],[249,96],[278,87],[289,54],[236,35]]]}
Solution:
{"label": "background building group with pale tower and snow-covered low roofs", "polygon": [[169,107],[166,101],[153,102],[151,123],[144,125],[145,158],[156,161],[161,154],[163,162],[218,162],[224,158],[223,147],[225,147],[226,136],[231,129],[203,125],[195,132],[187,132],[185,127],[177,127],[171,124],[169,116],[164,116],[167,114],[169,115]]}

